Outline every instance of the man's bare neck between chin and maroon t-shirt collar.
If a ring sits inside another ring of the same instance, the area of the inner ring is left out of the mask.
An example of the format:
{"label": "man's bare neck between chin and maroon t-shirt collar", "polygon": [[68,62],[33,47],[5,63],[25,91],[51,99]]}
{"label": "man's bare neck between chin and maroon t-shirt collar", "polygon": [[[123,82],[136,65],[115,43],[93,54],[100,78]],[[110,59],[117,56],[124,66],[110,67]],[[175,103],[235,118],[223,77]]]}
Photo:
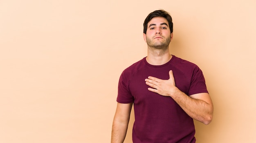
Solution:
{"label": "man's bare neck between chin and maroon t-shirt collar", "polygon": [[169,53],[169,48],[165,49],[152,49],[148,48],[148,56],[146,61],[150,65],[163,65],[170,61],[172,55]]}

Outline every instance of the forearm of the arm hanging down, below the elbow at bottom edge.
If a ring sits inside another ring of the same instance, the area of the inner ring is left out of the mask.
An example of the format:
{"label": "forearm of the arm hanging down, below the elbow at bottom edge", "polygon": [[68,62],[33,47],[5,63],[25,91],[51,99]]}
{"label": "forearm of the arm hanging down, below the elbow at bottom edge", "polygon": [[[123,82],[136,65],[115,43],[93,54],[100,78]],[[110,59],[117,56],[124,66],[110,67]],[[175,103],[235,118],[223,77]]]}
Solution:
{"label": "forearm of the arm hanging down, below the elbow at bottom edge", "polygon": [[127,123],[121,123],[114,119],[112,125],[111,143],[123,143],[128,128]]}

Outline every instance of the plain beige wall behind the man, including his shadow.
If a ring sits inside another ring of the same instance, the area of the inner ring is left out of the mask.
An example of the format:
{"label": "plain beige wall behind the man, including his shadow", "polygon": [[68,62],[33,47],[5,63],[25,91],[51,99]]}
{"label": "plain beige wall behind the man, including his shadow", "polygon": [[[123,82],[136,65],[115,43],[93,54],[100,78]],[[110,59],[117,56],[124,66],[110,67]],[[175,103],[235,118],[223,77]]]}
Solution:
{"label": "plain beige wall behind the man, including his shadow", "polygon": [[157,9],[173,17],[171,54],[203,70],[214,102],[212,123],[195,121],[197,142],[255,142],[255,7],[255,0],[1,0],[0,142],[110,142],[119,76],[146,56],[142,24]]}

